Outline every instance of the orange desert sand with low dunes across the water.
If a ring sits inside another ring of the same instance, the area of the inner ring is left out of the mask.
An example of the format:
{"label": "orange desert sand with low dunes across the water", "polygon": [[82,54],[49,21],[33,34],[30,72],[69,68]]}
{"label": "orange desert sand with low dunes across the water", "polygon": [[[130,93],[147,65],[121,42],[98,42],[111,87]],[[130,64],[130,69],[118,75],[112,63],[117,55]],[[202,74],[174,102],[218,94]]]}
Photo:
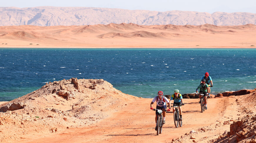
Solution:
{"label": "orange desert sand with low dunes across the water", "polygon": [[256,25],[1,26],[0,47],[255,48]]}

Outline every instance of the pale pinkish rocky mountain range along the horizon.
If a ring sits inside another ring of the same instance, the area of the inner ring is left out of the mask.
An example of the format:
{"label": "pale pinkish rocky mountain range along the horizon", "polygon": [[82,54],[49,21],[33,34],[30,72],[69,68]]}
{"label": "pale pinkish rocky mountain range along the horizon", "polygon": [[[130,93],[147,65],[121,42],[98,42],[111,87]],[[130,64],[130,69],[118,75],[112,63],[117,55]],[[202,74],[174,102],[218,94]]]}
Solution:
{"label": "pale pinkish rocky mountain range along the horizon", "polygon": [[147,11],[117,8],[53,7],[29,8],[0,7],[0,26],[70,26],[109,23],[138,25],[246,25],[256,24],[256,13]]}

